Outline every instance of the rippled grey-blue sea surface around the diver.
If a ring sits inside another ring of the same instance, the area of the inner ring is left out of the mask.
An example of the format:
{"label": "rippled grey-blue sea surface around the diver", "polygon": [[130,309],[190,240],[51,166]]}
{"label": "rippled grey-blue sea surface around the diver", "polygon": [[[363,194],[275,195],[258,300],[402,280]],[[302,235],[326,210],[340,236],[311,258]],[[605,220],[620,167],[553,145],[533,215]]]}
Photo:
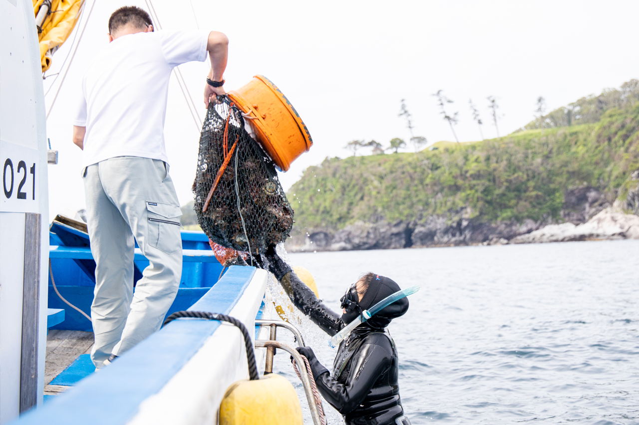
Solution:
{"label": "rippled grey-blue sea surface around the diver", "polygon": [[[422,285],[389,327],[413,424],[639,424],[639,241],[304,253],[289,262],[312,272],[335,311],[363,272]],[[332,369],[325,334],[300,327]],[[274,370],[297,380],[288,355],[275,356]],[[324,406],[329,424],[343,423]]]}

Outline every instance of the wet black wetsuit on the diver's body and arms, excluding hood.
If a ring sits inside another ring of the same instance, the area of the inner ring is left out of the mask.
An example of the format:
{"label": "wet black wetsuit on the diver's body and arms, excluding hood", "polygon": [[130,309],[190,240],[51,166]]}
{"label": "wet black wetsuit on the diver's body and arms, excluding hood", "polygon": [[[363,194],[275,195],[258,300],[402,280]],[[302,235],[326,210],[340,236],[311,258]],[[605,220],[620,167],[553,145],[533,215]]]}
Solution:
{"label": "wet black wetsuit on the diver's body and arms, excluding hood", "polygon": [[[282,283],[291,301],[312,322],[331,336],[344,327],[339,315],[322,304],[286,263],[269,260],[270,270]],[[403,311],[406,309],[408,301]],[[369,320],[370,324],[359,325],[342,341],[332,375],[319,363],[310,347],[298,348],[309,359],[319,392],[344,415],[347,425],[392,425],[397,417],[404,414],[397,382],[397,349],[385,329],[390,318],[377,319]],[[410,424],[408,421],[404,423]]]}

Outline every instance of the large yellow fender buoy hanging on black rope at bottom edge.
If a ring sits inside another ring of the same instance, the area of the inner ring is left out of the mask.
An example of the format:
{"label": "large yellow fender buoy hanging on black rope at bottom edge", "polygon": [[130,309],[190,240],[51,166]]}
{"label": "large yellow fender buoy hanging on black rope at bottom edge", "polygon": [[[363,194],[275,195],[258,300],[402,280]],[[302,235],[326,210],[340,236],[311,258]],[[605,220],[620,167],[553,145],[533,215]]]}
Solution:
{"label": "large yellow fender buoy hanging on black rope at bottom edge", "polygon": [[220,425],[303,425],[293,384],[270,373],[259,380],[234,382],[220,403]]}

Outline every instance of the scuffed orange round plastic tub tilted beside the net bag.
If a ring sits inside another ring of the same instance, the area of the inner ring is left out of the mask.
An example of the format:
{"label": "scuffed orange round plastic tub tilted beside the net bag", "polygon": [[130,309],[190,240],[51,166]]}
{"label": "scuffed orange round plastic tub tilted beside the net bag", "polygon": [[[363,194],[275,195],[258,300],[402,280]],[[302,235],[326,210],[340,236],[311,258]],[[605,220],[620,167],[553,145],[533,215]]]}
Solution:
{"label": "scuffed orange round plastic tub tilted beside the net bag", "polygon": [[249,84],[228,94],[246,114],[258,142],[282,171],[311,149],[313,140],[304,121],[268,78],[256,75]]}

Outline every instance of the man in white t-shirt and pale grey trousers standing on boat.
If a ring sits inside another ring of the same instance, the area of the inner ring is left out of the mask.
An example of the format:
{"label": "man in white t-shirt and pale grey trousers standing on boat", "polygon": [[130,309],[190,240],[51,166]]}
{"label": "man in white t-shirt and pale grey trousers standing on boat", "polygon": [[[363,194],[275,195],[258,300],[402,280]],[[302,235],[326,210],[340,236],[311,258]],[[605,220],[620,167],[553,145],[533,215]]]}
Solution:
{"label": "man in white t-shirt and pale grey trousers standing on boat", "polygon": [[[180,285],[180,204],[164,149],[169,77],[210,57],[204,104],[225,94],[228,40],[215,31],[159,31],[126,6],[109,19],[109,46],[82,78],[73,143],[82,153],[95,297],[96,368],[160,329]],[[150,264],[133,292],[134,246]]]}

